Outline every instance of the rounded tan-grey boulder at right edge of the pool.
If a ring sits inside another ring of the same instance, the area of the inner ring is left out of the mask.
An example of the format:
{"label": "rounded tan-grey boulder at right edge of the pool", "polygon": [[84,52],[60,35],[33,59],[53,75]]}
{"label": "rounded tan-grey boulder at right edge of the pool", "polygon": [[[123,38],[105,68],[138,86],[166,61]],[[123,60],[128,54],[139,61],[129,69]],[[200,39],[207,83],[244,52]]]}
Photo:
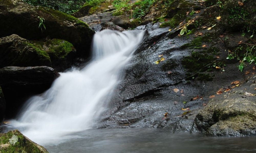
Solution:
{"label": "rounded tan-grey boulder at right edge of the pool", "polygon": [[245,98],[211,100],[197,115],[197,128],[213,136],[256,135],[256,103]]}

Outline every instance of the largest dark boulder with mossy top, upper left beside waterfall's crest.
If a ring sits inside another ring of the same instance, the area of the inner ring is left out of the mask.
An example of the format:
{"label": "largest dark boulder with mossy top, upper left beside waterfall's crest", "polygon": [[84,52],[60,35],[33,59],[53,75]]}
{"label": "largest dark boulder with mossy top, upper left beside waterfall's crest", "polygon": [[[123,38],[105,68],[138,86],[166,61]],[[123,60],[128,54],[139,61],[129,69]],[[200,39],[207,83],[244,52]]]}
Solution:
{"label": "largest dark boulder with mossy top, upper left beside waterfall's crest", "polygon": [[[94,32],[88,25],[63,12],[34,7],[21,0],[0,0],[0,37],[17,34],[28,40],[44,38],[64,39],[78,50],[79,55],[88,56]],[[44,27],[39,28],[40,18]]]}

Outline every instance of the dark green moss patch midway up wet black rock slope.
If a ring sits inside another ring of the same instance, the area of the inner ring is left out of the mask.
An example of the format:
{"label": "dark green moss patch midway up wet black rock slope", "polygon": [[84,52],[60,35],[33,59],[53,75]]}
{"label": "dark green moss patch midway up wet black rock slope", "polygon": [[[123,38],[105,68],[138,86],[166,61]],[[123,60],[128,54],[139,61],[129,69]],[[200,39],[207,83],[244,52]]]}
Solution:
{"label": "dark green moss patch midway up wet black rock slope", "polygon": [[188,72],[196,73],[200,70],[204,71],[205,66],[214,60],[215,58],[212,55],[193,52],[191,56],[186,56],[183,58],[182,66],[186,68]]}

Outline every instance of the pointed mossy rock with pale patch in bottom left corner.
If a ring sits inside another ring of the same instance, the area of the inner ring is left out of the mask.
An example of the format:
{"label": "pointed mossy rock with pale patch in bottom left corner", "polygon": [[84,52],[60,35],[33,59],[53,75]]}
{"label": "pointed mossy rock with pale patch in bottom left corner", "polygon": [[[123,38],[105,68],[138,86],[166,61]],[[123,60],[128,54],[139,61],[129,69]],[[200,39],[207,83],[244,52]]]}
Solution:
{"label": "pointed mossy rock with pale patch in bottom left corner", "polygon": [[48,153],[48,151],[27,137],[18,130],[9,131],[5,134],[0,134],[0,152],[1,153]]}

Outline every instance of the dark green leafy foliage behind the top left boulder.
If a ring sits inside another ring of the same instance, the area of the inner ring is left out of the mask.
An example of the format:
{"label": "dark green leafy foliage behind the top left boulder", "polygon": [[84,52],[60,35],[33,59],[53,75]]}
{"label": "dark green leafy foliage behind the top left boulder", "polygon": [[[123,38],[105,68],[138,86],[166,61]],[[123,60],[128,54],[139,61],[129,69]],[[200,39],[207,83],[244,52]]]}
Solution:
{"label": "dark green leafy foliage behind the top left boulder", "polygon": [[[76,12],[88,0],[23,0],[24,2],[33,6],[43,6],[56,9],[67,14]],[[92,0],[91,0],[92,1]],[[94,0],[96,1],[96,0]],[[99,1],[99,0],[98,0]]]}

